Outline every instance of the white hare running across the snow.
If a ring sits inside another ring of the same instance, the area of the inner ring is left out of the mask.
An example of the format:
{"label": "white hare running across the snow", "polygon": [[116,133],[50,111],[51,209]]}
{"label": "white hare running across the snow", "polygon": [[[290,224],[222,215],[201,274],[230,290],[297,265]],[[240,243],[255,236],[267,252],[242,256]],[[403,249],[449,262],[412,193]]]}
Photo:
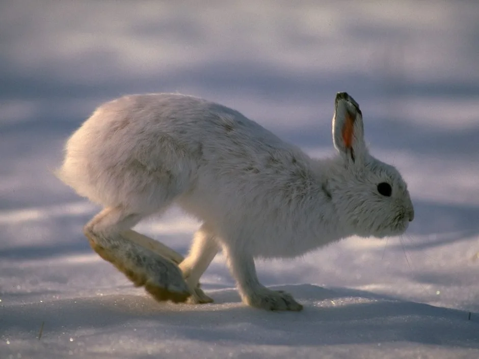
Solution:
{"label": "white hare running across the snow", "polygon": [[[337,156],[312,159],[220,104],[132,95],[102,104],[73,133],[58,176],[104,207],[84,229],[93,249],[156,299],[212,301],[199,279],[221,249],[245,303],[299,311],[291,295],[259,283],[254,258],[401,234],[414,216],[406,183],[368,153],[361,111],[344,92],[333,142]],[[203,221],[184,260],[131,230],[173,203]]]}

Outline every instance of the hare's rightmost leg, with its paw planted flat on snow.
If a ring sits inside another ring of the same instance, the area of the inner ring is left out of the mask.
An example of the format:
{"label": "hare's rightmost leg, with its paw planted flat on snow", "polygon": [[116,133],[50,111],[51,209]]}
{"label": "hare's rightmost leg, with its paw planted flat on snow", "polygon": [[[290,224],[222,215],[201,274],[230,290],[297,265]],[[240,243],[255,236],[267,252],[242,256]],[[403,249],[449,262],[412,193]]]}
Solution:
{"label": "hare's rightmost leg, with its paw planted flat on snow", "polygon": [[269,311],[300,311],[303,309],[303,306],[290,294],[268,289],[259,283],[251,254],[231,246],[225,246],[223,250],[226,251],[231,274],[236,280],[238,291],[246,304]]}

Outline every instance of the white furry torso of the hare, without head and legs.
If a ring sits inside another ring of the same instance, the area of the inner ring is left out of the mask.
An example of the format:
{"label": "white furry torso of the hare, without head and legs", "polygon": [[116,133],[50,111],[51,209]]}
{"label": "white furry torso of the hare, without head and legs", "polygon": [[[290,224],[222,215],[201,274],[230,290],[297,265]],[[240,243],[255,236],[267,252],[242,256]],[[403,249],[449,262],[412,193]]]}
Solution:
{"label": "white furry torso of the hare, without head and legs", "polygon": [[98,108],[67,149],[62,178],[105,207],[151,214],[177,202],[222,241],[263,257],[297,256],[339,239],[328,169],[218,104],[124,97]]}

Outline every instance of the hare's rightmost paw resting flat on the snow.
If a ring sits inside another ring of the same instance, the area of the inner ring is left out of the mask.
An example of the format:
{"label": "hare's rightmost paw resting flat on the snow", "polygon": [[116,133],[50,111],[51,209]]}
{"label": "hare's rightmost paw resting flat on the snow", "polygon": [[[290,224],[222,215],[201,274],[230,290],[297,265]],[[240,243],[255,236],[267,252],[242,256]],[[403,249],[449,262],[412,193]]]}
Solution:
{"label": "hare's rightmost paw resting flat on the snow", "polygon": [[267,288],[261,288],[246,296],[245,301],[248,305],[265,309],[268,311],[301,311],[303,306],[298,303],[290,294],[283,291],[275,291]]}

